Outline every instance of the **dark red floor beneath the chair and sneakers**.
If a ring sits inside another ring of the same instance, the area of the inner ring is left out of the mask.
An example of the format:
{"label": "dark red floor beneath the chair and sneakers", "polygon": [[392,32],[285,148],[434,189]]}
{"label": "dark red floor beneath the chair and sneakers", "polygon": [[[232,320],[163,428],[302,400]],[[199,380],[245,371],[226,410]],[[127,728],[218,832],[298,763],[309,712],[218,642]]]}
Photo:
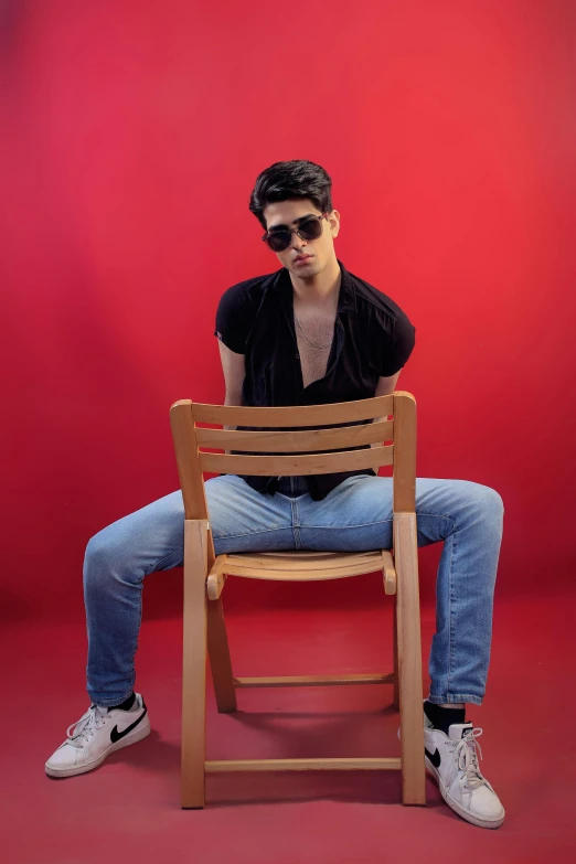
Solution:
{"label": "dark red floor beneath the chair and sneakers", "polygon": [[[462,822],[431,781],[427,808],[402,807],[393,771],[211,776],[206,809],[182,811],[181,623],[178,604],[164,614],[154,597],[152,588],[145,599],[137,682],[153,732],[97,771],[68,780],[47,779],[43,765],[87,707],[82,619],[3,628],[2,862],[576,860],[576,597],[497,601],[489,695],[470,718],[484,728],[484,772],[508,811],[498,831]],[[388,609],[249,614],[236,606],[228,614],[235,672],[387,669],[388,621]],[[423,631],[427,652],[430,606]],[[395,755],[390,700],[390,687],[378,686],[245,691],[238,714],[220,716],[210,690],[209,758]]]}

